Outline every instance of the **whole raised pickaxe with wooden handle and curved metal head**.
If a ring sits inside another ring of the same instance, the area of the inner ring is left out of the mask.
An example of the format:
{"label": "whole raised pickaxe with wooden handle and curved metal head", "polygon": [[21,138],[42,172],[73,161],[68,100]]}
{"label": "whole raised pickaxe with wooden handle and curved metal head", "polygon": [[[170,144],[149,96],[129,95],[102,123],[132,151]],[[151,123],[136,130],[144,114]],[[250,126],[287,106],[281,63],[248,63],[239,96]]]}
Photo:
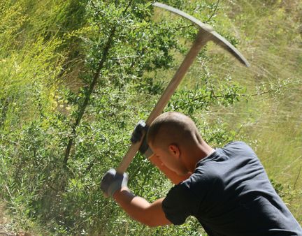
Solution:
{"label": "whole raised pickaxe with wooden handle and curved metal head", "polygon": [[[199,33],[196,36],[196,40],[194,41],[194,44],[192,45],[192,47],[189,50],[189,52],[187,53],[185,59],[182,61],[182,64],[178,68],[178,71],[175,73],[171,82],[168,84],[168,87],[166,87],[166,90],[159,98],[157,105],[154,107],[154,109],[150,113],[147,121],[145,121],[146,126],[150,126],[152,121],[156,117],[158,117],[161,114],[161,112],[164,110],[166,104],[170,100],[175,89],[178,87],[178,84],[180,84],[182,78],[184,78],[185,73],[187,73],[187,70],[193,63],[197,54],[199,54],[201,47],[206,45],[206,43],[208,43],[208,41],[212,40],[214,43],[220,45],[222,48],[229,51],[242,64],[244,64],[245,66],[250,66],[248,64],[247,60],[243,57],[243,55],[240,52],[238,52],[238,50],[236,50],[236,48],[233,47],[233,45],[231,45],[231,43],[229,43],[228,40],[226,40],[220,34],[217,34],[217,32],[214,31],[214,29],[212,27],[210,27],[210,25],[203,24],[201,21],[197,20],[195,17],[192,17],[192,15],[188,15],[187,13],[184,13],[181,10],[178,10],[171,6],[167,6],[163,3],[156,2],[156,3],[153,3],[152,5],[157,6],[159,8],[164,8],[166,10],[170,10],[172,13],[185,17],[187,20],[190,20],[191,22],[196,24],[197,27],[199,27]],[[127,170],[129,164],[131,163],[132,159],[136,155],[136,152],[138,152],[138,149],[141,147],[144,136],[145,136],[145,133],[143,133],[140,141],[132,143],[132,145],[128,149],[127,154],[122,159],[120,166],[117,168],[117,172],[122,174],[123,172],[125,172]]]}

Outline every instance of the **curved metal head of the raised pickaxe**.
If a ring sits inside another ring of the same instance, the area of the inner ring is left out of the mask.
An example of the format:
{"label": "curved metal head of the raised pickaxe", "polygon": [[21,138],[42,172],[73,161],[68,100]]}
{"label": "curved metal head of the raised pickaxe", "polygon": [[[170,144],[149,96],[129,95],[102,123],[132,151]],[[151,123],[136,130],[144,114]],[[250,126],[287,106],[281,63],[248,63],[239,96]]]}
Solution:
{"label": "curved metal head of the raised pickaxe", "polygon": [[152,5],[157,6],[159,8],[169,10],[172,13],[175,13],[177,15],[185,17],[187,20],[190,20],[191,22],[196,24],[204,32],[204,34],[210,34],[210,40],[213,40],[214,43],[216,43],[217,45],[220,45],[225,50],[230,52],[234,57],[236,57],[236,59],[238,59],[238,61],[240,61],[245,66],[247,66],[247,67],[250,66],[250,64],[247,62],[247,59],[245,59],[245,57],[243,57],[243,54],[241,54],[236,49],[236,47],[234,47],[231,43],[229,43],[229,41],[227,39],[225,39],[220,34],[218,34],[216,31],[214,31],[214,29],[210,25],[204,24],[200,20],[197,20],[195,17],[192,17],[192,15],[188,15],[187,13],[183,12],[182,10],[178,10],[178,9],[168,6],[166,4],[155,2]]}

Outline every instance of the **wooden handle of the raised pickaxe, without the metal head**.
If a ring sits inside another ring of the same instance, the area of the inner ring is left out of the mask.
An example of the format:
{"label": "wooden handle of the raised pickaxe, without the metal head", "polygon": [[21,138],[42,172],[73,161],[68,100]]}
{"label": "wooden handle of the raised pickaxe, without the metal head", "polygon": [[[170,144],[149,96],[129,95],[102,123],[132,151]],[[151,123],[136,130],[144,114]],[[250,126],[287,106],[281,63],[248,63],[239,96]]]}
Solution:
{"label": "wooden handle of the raised pickaxe, without the metal head", "polygon": [[[206,45],[208,40],[211,40],[211,39],[212,38],[211,38],[210,34],[203,31],[202,29],[199,31],[199,34],[197,34],[196,40],[194,41],[194,44],[192,45],[191,49],[187,53],[185,59],[182,61],[182,64],[178,68],[178,71],[175,73],[171,82],[168,84],[168,87],[166,87],[164,93],[161,94],[161,97],[159,98],[157,105],[155,105],[155,107],[153,108],[152,112],[150,113],[147,121],[145,122],[147,126],[150,126],[152,121],[156,117],[158,117],[161,114],[161,112],[164,110],[164,108],[167,105],[168,101],[170,100],[171,96],[174,94],[175,89],[180,84],[182,78],[185,77],[185,74],[187,73],[189,67],[192,65],[194,59],[199,54],[201,47]],[[138,152],[138,149],[141,147],[141,142],[143,141],[144,136],[145,136],[145,133],[143,134],[143,137],[141,138],[140,142],[136,142],[129,147],[127,154],[125,154],[119,167],[117,168],[117,172],[122,174],[123,172],[125,172],[127,170],[132,159],[136,155],[136,152]]]}

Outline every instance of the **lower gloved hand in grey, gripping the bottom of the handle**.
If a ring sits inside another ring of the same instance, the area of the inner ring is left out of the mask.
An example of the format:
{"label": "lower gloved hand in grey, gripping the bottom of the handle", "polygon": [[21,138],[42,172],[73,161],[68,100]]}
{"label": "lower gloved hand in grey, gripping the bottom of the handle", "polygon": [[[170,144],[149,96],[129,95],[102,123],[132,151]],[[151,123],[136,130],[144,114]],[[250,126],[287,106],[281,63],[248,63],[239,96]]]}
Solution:
{"label": "lower gloved hand in grey, gripping the bottom of the handle", "polygon": [[116,170],[110,169],[106,172],[101,180],[101,190],[106,196],[112,197],[115,191],[121,189],[128,184],[128,175],[124,173],[121,175]]}

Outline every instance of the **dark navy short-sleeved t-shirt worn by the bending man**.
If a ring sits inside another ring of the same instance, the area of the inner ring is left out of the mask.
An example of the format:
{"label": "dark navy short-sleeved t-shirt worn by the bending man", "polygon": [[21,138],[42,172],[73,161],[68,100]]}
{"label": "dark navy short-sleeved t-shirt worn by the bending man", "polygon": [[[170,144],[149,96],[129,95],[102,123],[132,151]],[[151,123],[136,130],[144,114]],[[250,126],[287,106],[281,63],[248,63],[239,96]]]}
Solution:
{"label": "dark navy short-sleeved t-shirt worn by the bending man", "polygon": [[273,189],[256,154],[230,142],[196,165],[163,201],[175,225],[195,216],[210,236],[302,235],[301,226]]}

